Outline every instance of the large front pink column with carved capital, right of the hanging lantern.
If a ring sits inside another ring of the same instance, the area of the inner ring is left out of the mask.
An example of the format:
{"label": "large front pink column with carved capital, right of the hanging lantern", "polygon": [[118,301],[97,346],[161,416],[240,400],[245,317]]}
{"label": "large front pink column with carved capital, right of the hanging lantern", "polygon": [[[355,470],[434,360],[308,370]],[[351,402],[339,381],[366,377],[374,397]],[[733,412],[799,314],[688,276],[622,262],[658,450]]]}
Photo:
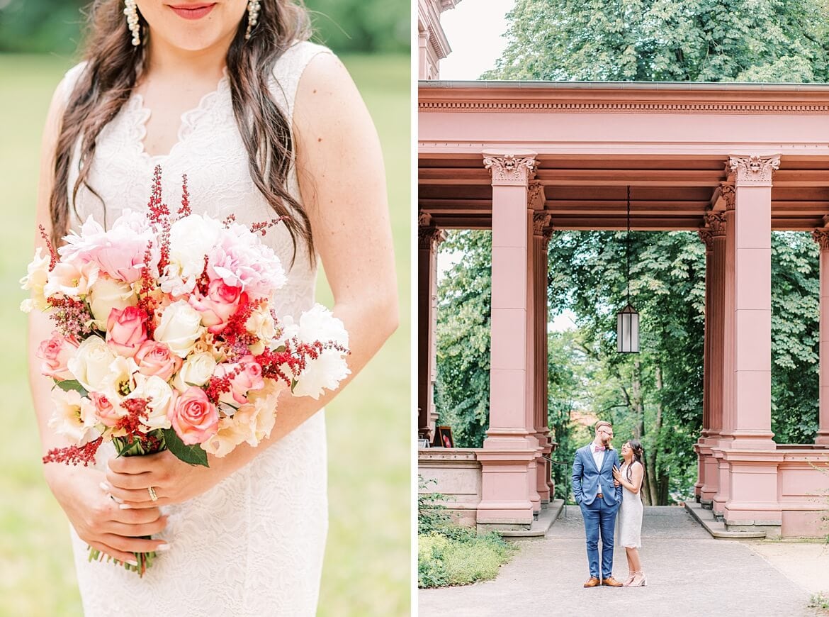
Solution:
{"label": "large front pink column with carved capital, right of the hanging lantern", "polygon": [[776,445],[771,431],[771,190],[779,156],[732,156],[734,213],[734,417],[726,527],[779,534]]}

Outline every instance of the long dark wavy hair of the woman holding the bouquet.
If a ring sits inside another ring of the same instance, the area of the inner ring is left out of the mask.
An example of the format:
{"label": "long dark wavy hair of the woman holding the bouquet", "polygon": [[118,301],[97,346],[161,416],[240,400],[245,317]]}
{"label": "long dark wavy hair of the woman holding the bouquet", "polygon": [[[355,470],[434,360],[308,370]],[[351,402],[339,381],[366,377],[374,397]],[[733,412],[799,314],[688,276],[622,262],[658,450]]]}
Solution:
{"label": "long dark wavy hair of the woman holding the bouquet", "polygon": [[[293,160],[293,139],[288,119],[274,103],[268,88],[271,70],[279,56],[293,43],[311,35],[308,12],[301,0],[260,0],[259,20],[245,40],[247,12],[227,51],[230,95],[239,132],[248,151],[250,177],[278,216],[285,216],[296,255],[297,238],[308,246],[313,260],[311,224],[303,207],[286,187]],[[121,0],[95,0],[89,10],[86,37],[87,65],[66,104],[55,155],[55,182],[49,209],[51,240],[60,244],[69,230],[69,171],[75,143],[80,138],[80,174],[72,187],[72,208],[95,156],[95,138],[132,94],[138,77],[146,70],[143,46],[133,46]],[[147,22],[139,13],[142,40],[148,36]]]}

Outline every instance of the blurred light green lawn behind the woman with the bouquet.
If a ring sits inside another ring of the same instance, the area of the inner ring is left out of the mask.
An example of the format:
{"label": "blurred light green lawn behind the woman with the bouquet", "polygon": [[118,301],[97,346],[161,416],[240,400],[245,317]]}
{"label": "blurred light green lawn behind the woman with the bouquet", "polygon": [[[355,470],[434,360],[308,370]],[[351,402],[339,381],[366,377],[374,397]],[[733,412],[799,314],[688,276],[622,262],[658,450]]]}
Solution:
{"label": "blurred light green lawn behind the woman with the bouquet", "polygon": [[[401,312],[390,341],[327,406],[330,527],[319,615],[408,615],[410,66],[408,56],[343,61],[383,143]],[[17,283],[32,257],[42,124],[71,64],[0,56],[0,615],[81,615],[68,523],[41,475]],[[319,299],[330,306],[321,281]]]}

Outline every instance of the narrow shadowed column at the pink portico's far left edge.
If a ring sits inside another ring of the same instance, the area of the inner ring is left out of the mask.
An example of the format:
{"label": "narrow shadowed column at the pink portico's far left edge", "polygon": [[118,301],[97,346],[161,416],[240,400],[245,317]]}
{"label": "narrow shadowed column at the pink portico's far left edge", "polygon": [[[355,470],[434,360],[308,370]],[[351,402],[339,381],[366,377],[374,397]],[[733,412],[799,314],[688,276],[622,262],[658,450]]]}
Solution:
{"label": "narrow shadowed column at the pink portico's far left edge", "polygon": [[437,365],[438,244],[443,232],[429,226],[428,214],[418,219],[418,436],[431,440],[437,411],[434,407],[434,380]]}

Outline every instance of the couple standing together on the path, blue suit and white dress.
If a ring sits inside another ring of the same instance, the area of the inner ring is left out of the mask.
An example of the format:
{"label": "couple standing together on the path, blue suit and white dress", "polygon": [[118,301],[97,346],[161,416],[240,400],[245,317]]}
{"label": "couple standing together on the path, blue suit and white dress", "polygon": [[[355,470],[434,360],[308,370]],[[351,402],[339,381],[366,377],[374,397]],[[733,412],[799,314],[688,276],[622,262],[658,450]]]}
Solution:
{"label": "couple standing together on the path, blue suit and white dress", "polygon": [[[590,578],[585,587],[639,587],[647,584],[639,561],[642,546],[642,488],[645,468],[642,445],[629,440],[622,446],[623,464],[611,447],[613,426],[600,420],[596,423],[595,439],[575,453],[573,463],[573,494],[584,517],[587,533],[587,560]],[[628,580],[620,583],[613,571],[613,531],[619,518],[619,542],[628,556]],[[599,534],[602,537],[602,563],[599,571]],[[601,576],[599,576],[601,575]]]}

